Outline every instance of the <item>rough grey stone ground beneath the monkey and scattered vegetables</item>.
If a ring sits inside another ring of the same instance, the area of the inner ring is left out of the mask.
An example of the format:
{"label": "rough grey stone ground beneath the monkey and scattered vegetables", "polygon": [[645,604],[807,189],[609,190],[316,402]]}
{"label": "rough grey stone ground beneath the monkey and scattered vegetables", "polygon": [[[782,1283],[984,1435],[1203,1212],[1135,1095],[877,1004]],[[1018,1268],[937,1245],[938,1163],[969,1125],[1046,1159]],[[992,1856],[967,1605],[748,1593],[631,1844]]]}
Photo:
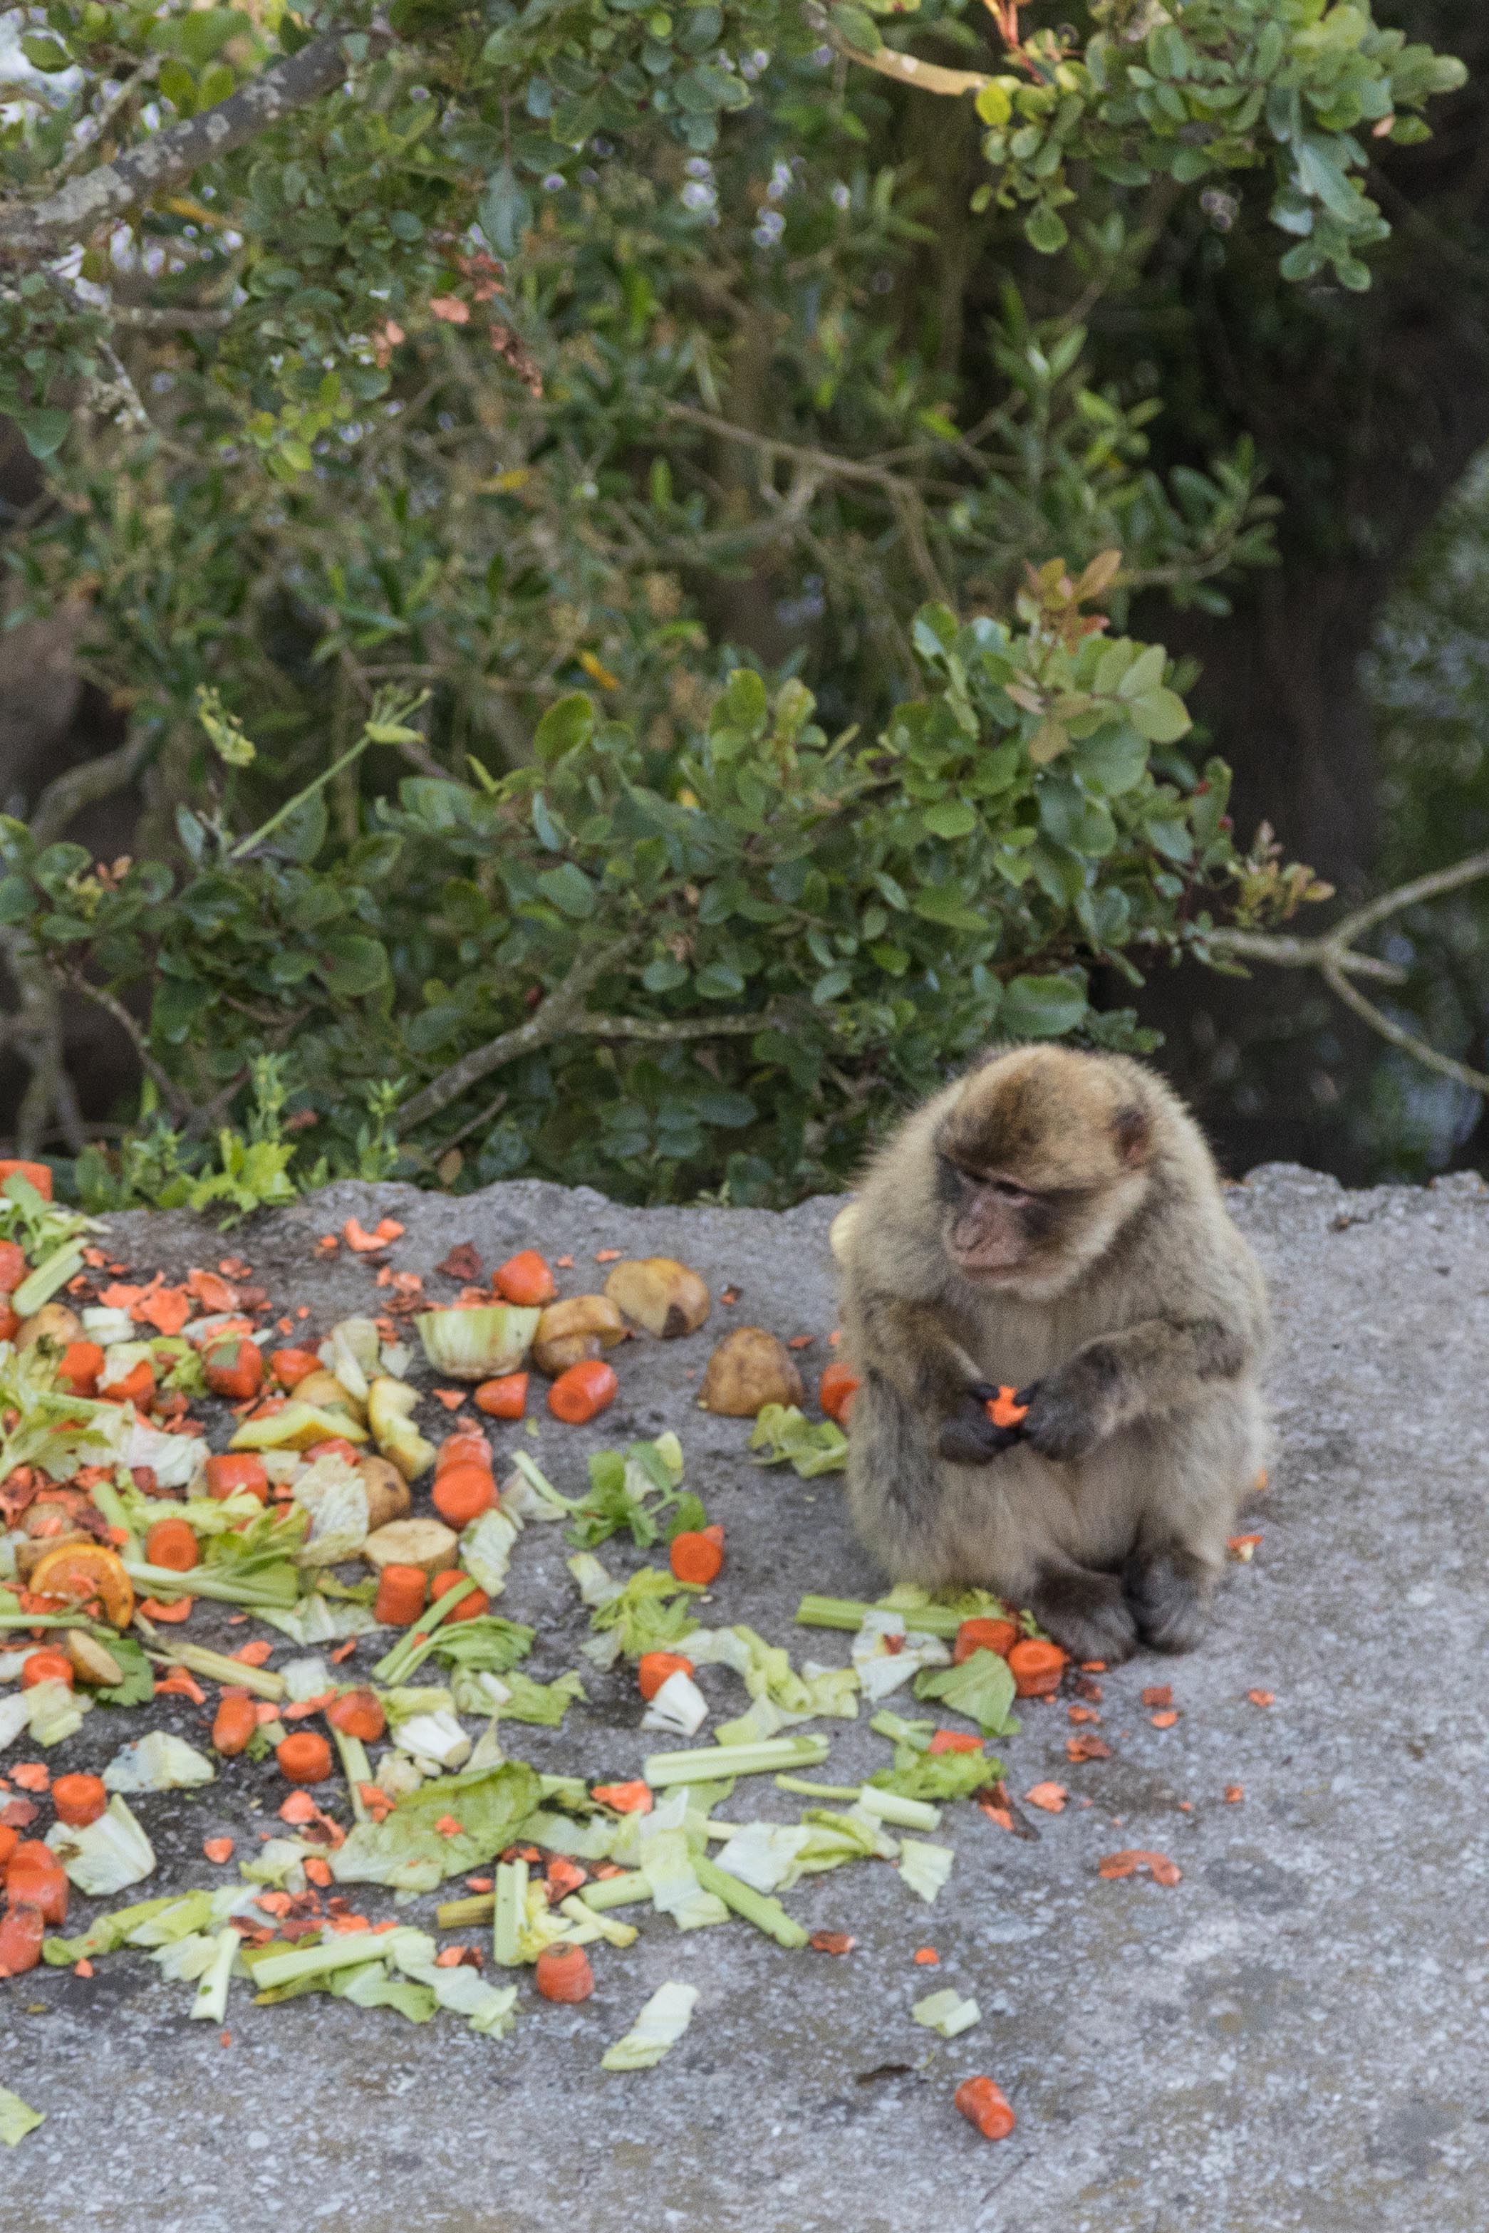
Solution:
{"label": "rough grey stone ground beneath the monkey and scattered vegetables", "polygon": [[[92,1983],[42,1972],[0,1987],[0,2081],[49,2117],[2,2166],[7,2229],[558,2233],[583,2215],[636,2233],[897,2233],[922,2217],[987,2233],[1478,2233],[1489,1197],[1476,1179],[1344,1195],[1272,1166],[1232,1206],[1277,1300],[1264,1543],[1230,1570],[1197,1657],[1105,1679],[1109,1762],[1067,1766],[1065,1704],[1025,1715],[1011,1789],[1072,1791],[1063,1815],[1029,1818],[1036,1840],[955,1809],[938,1907],[875,1865],[790,1894],[808,1927],[857,1936],[846,1961],[786,1954],[743,1923],[679,1936],[645,1916],[630,1954],[598,1949],[594,2001],[538,2007],[527,1987],[507,2043],[326,1999],[254,2010],[234,1987],[223,2048],[138,1956],[100,1961]],[[337,1188],[230,1246],[324,1326],[371,1295],[364,1264],[308,1255],[353,1208],[366,1224],[395,1210],[409,1235],[393,1262],[426,1275],[473,1239],[487,1262],[529,1242],[574,1250],[569,1291],[603,1246],[676,1253],[714,1288],[732,1280],[739,1304],[714,1309],[705,1335],[621,1358],[603,1434],[547,1425],[538,1449],[574,1487],[587,1447],[676,1427],[730,1532],[708,1617],[748,1619],[797,1657],[846,1652],[846,1637],[790,1626],[804,1588],[875,1585],[837,1480],[750,1467],[743,1425],[697,1411],[690,1378],[728,1322],[826,1333],[833,1204],[772,1217],[623,1210],[549,1186],[467,1201]],[[141,1264],[221,1255],[183,1217],[112,1224]],[[806,1362],[824,1355],[819,1342]],[[540,1626],[545,1677],[583,1635],[560,1559],[556,1530],[531,1530],[505,1599]],[[1174,1728],[1150,1726],[1150,1681],[1174,1684]],[[723,1670],[703,1684],[739,1697]],[[1270,1708],[1248,1704],[1257,1686]],[[567,1733],[513,1740],[540,1766],[634,1773],[647,1748],[634,1693],[616,1675],[592,1695]],[[170,1704],[172,1726],[201,1728]],[[121,1719],[92,1715],[69,1764],[107,1757]],[[882,1762],[864,1724],[822,1726],[824,1775]],[[250,1780],[141,1802],[165,1882],[219,1878],[203,1836],[252,1838]],[[279,1791],[259,1775],[257,1800]],[[730,1813],[757,1804],[788,1802],[741,1786]],[[1096,1862],[1118,1847],[1170,1853],[1183,1882],[1103,1882]],[[940,1949],[933,1974],[911,1963],[924,1943]],[[603,2074],[601,2045],[670,1976],[701,1992],[685,2043],[656,2072]],[[973,1992],[980,2028],[951,2045],[915,2028],[929,1985]],[[1018,2108],[996,2148],[951,2110],[971,2072]]]}

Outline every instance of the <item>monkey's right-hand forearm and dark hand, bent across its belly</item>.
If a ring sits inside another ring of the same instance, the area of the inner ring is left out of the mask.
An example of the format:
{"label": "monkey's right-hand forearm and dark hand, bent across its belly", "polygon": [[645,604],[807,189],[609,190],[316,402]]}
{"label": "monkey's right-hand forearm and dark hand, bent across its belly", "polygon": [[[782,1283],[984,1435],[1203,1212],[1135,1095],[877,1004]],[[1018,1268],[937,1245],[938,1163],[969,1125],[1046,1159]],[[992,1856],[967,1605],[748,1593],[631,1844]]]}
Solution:
{"label": "monkey's right-hand forearm and dark hand, bent across its belly", "polygon": [[1085,1458],[1136,1418],[1181,1411],[1246,1369],[1248,1342],[1219,1317],[1145,1317],[1103,1333],[1020,1389],[1022,1438],[1045,1458]]}

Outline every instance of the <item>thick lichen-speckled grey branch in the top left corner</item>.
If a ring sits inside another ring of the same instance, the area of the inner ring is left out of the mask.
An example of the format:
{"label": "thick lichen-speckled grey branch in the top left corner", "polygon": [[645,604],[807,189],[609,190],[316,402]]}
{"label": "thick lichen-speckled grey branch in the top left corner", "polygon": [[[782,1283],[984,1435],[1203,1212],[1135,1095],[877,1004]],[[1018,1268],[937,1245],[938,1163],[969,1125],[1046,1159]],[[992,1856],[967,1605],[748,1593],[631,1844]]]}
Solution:
{"label": "thick lichen-speckled grey branch in the top left corner", "polygon": [[203,163],[212,163],[246,141],[268,132],[281,116],[304,109],[333,92],[346,76],[346,54],[339,31],[321,31],[299,54],[270,63],[250,85],[188,116],[185,123],[156,132],[127,154],[98,170],[69,179],[47,201],[0,203],[0,259],[13,263],[40,261],[76,241],[89,239],[98,226],[123,217],[136,203],[183,185]]}

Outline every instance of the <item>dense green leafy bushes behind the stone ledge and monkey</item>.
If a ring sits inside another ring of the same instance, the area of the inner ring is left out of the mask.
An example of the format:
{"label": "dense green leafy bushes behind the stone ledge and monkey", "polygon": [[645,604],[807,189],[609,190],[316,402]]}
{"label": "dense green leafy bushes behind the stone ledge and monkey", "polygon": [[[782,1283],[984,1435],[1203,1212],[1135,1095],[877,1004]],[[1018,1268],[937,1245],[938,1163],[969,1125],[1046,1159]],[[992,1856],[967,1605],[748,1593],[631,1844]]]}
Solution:
{"label": "dense green leafy bushes behind the stone ledge and monkey", "polygon": [[[1134,1043],[1105,985],[1308,893],[1121,634],[1266,563],[1259,460],[1161,480],[1143,335],[1096,375],[1085,322],[1252,179],[1288,279],[1366,286],[1366,138],[1458,65],[1324,0],[20,13],[42,212],[83,118],[107,156],[350,33],[0,299],[22,610],[85,607],[150,761],[132,864],[7,828],[11,956],[138,1018],[170,1119],[96,1197],[179,1188],[257,1058],[279,1183],[788,1197],[991,1029]],[[978,76],[895,83],[911,42]]]}

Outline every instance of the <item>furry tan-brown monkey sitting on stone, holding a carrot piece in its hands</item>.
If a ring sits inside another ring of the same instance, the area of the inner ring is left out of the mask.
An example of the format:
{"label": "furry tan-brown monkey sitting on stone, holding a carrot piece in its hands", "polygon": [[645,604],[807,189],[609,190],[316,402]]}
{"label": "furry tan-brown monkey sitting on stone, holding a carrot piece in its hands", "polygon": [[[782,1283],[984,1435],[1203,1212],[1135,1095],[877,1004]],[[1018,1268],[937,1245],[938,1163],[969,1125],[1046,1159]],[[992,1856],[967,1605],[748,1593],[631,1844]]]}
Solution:
{"label": "furry tan-brown monkey sitting on stone, holding a carrot piece in its hands", "polygon": [[[893,1579],[991,1588],[1076,1659],[1192,1650],[1266,1463],[1268,1302],[1176,1094],[993,1047],[895,1130],[833,1248],[848,1505]],[[1020,1427],[987,1416],[1000,1384]]]}

